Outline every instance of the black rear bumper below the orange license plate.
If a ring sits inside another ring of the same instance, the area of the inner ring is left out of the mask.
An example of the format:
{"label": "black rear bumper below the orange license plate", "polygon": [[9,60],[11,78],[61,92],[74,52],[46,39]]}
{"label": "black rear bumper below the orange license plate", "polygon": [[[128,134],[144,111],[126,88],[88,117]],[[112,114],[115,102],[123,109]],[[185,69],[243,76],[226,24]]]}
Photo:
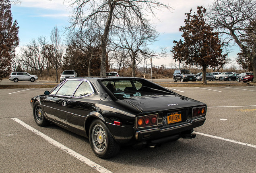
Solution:
{"label": "black rear bumper below the orange license plate", "polygon": [[153,129],[139,130],[135,132],[135,139],[137,141],[151,141],[155,139],[174,136],[184,131],[189,131],[203,125],[205,120],[205,117],[200,117],[198,119],[191,120],[189,123],[173,127],[167,127],[163,129],[156,127]]}

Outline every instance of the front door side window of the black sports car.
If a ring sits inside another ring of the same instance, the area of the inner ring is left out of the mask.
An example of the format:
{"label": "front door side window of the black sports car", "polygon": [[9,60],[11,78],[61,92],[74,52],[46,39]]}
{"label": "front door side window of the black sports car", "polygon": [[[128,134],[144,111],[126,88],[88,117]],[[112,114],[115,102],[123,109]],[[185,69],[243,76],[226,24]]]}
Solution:
{"label": "front door side window of the black sports car", "polygon": [[63,95],[63,96],[72,96],[74,90],[78,86],[81,80],[68,80],[66,81],[56,95]]}

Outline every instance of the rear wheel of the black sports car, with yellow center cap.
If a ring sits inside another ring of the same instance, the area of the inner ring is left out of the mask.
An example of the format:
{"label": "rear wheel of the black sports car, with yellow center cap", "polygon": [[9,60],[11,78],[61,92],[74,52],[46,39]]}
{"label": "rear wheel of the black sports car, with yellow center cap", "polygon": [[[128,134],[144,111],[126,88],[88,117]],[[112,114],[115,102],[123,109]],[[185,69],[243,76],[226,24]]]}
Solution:
{"label": "rear wheel of the black sports car, with yellow center cap", "polygon": [[120,150],[120,145],[114,140],[107,126],[99,119],[91,123],[89,141],[95,155],[102,159],[114,157]]}

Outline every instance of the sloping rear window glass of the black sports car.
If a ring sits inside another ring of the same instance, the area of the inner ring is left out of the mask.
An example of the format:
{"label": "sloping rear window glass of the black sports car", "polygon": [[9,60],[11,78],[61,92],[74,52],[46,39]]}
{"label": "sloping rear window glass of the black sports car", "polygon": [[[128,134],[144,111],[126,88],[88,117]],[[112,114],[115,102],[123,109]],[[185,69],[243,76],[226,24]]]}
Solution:
{"label": "sloping rear window glass of the black sports car", "polygon": [[101,82],[120,100],[175,94],[172,91],[142,79],[103,79]]}

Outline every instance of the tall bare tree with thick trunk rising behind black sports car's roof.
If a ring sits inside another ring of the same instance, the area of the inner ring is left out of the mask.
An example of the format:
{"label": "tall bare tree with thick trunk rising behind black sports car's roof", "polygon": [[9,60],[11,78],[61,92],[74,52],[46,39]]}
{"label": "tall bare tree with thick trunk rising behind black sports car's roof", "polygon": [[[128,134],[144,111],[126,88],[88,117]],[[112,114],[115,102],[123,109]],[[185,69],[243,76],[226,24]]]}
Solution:
{"label": "tall bare tree with thick trunk rising behind black sports car's roof", "polygon": [[105,76],[107,40],[112,26],[123,26],[135,23],[139,20],[144,26],[149,26],[148,15],[155,16],[154,10],[161,8],[170,9],[168,5],[157,2],[157,0],[74,0],[73,16],[70,18],[70,27],[80,28],[91,26],[101,28],[101,74]]}

